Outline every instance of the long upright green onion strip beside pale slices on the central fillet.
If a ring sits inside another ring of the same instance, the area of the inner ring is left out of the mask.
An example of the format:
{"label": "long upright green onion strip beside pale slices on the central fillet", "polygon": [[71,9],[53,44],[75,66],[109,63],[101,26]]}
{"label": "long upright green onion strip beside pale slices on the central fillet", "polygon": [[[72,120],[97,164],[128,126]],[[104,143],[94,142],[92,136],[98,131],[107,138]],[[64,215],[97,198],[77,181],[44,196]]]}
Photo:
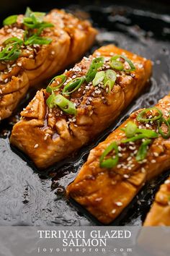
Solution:
{"label": "long upright green onion strip beside pale slices on the central fillet", "polygon": [[86,82],[91,82],[92,80],[94,80],[94,77],[97,74],[97,69],[99,69],[99,67],[102,67],[103,64],[104,57],[98,57],[91,61],[89,71],[87,72],[85,77]]}

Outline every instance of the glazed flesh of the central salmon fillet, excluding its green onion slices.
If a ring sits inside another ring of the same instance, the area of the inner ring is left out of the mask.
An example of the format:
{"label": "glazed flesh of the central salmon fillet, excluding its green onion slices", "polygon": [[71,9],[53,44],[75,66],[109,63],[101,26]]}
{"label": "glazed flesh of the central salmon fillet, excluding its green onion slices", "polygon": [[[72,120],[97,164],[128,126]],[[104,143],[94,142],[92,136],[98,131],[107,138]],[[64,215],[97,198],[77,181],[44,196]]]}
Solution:
{"label": "glazed flesh of the central salmon fillet, excluding its green onion slices", "polygon": [[[49,108],[46,104],[49,93],[38,91],[22,111],[21,121],[13,127],[12,145],[29,155],[38,168],[46,168],[94,140],[144,88],[151,76],[151,61],[109,45],[99,48],[89,58],[84,57],[73,69],[64,73],[67,81],[84,77],[91,61],[97,57],[104,57],[104,64],[99,70],[106,71],[110,58],[117,54],[124,54],[132,60],[135,71],[115,71],[116,81],[110,91],[102,83],[94,86],[92,82],[83,82],[79,90],[68,96],[76,106],[76,116],[68,115],[58,107]],[[55,91],[55,95],[66,90],[67,81]],[[54,87],[55,84],[56,81],[53,82]]]}

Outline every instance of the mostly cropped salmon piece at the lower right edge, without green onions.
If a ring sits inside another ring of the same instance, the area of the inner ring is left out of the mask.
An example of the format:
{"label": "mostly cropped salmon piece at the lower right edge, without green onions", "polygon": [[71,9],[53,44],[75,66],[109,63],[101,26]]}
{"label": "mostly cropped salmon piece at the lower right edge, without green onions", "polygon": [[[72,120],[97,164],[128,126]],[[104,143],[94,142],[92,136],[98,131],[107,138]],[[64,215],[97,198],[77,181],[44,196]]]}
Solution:
{"label": "mostly cropped salmon piece at the lower right edge, without green onions", "polygon": [[170,226],[170,177],[156,193],[143,226]]}

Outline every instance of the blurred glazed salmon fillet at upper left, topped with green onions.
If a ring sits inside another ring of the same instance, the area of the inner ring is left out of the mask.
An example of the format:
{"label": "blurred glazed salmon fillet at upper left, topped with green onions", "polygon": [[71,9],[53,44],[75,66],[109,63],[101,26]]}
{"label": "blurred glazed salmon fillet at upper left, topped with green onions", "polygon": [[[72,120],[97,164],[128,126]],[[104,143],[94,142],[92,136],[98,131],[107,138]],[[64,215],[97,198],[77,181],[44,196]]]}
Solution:
{"label": "blurred glazed salmon fillet at upper left, topped with green onions", "polygon": [[[9,17],[0,30],[0,50],[9,46],[5,54],[0,52],[0,120],[12,114],[28,88],[76,62],[97,35],[88,21],[81,21],[63,10],[53,9],[42,17],[41,13],[29,9],[29,15],[18,15],[14,22],[15,17]],[[10,56],[7,56],[9,50]]]}

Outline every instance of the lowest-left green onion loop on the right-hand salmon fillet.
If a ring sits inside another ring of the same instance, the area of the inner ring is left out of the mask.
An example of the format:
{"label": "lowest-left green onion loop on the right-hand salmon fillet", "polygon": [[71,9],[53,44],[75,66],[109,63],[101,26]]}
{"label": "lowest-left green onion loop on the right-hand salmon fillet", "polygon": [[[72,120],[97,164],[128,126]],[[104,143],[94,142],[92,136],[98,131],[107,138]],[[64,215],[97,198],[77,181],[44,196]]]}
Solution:
{"label": "lowest-left green onion loop on the right-hand salmon fillet", "polygon": [[[104,158],[107,157],[107,155],[112,151],[115,150],[115,157],[107,158],[104,160]],[[116,142],[112,142],[102,153],[101,157],[99,158],[99,163],[101,168],[113,168],[117,165],[119,161],[118,156],[118,146]]]}

